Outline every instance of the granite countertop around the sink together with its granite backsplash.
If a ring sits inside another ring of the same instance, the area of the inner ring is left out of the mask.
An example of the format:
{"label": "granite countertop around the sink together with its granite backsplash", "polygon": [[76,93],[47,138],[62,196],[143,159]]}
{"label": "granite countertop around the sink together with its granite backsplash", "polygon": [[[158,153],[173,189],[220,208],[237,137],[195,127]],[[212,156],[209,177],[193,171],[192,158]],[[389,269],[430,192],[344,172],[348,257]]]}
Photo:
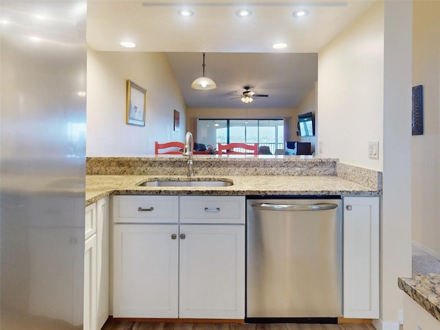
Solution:
{"label": "granite countertop around the sink together with its granite backsplash", "polygon": [[151,187],[144,181],[186,177],[186,157],[88,157],[86,203],[106,195],[364,195],[382,193],[382,173],[314,156],[195,156],[194,180],[224,179],[226,187]]}

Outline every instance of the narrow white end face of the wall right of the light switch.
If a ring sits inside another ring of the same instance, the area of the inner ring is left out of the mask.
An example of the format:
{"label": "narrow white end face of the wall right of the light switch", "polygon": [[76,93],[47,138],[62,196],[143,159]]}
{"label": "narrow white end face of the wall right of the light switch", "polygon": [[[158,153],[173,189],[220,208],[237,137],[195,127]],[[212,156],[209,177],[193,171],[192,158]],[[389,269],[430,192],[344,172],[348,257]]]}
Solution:
{"label": "narrow white end face of the wall right of the light switch", "polygon": [[[381,230],[381,318],[397,320],[411,276],[412,1],[384,5],[384,192]],[[395,328],[397,329],[397,328]]]}

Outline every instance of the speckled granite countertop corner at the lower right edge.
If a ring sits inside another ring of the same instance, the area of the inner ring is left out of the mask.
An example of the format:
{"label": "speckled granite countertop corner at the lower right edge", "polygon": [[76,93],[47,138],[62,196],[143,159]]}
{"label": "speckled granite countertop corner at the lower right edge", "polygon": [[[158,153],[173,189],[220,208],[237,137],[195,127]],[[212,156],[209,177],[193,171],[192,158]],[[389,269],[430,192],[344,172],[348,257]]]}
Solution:
{"label": "speckled granite countertop corner at the lower right edge", "polygon": [[440,321],[440,274],[399,278],[399,288]]}

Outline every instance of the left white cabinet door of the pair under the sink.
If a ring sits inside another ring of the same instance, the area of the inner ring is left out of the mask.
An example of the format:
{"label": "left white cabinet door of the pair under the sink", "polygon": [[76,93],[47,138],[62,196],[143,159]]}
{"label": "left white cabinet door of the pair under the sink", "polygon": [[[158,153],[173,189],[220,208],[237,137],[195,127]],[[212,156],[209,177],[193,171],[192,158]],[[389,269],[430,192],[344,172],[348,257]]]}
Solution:
{"label": "left white cabinet door of the pair under the sink", "polygon": [[113,227],[113,317],[177,318],[179,225]]}

